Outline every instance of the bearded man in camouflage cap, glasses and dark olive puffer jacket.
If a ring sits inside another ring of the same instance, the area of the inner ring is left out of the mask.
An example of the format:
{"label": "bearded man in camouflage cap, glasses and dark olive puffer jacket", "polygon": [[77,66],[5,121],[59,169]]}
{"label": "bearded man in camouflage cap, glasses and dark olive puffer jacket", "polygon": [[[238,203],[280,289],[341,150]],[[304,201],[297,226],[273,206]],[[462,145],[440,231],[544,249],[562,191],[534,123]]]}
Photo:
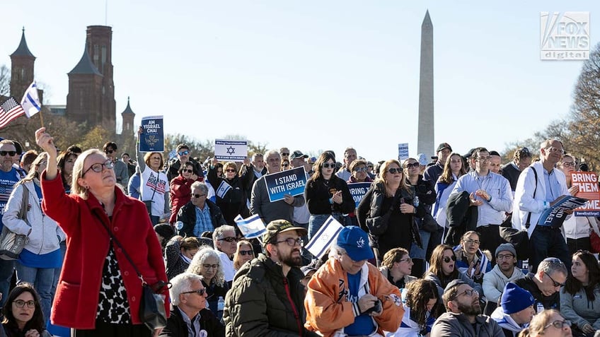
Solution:
{"label": "bearded man in camouflage cap, glasses and dark olive puffer jacket", "polygon": [[[279,154],[278,154],[279,155]],[[316,336],[304,323],[301,237],[306,229],[286,220],[267,225],[265,254],[244,264],[225,298],[226,336]]]}

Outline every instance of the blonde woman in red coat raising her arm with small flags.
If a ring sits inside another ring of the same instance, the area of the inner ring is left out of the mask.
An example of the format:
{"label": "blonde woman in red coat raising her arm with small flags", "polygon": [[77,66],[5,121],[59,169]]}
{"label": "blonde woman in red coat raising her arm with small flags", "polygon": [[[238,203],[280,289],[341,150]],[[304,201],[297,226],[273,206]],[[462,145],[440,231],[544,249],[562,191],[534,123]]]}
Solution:
{"label": "blonde woman in red coat raising her arm with small flags", "polygon": [[[159,329],[150,331],[139,319],[142,281],[135,268],[150,285],[167,280],[161,245],[146,206],[115,185],[113,162],[97,149],[79,155],[71,194],[65,194],[52,136],[42,128],[35,132],[35,139],[49,154],[40,179],[42,209],[67,233],[52,323],[74,329],[72,336],[76,337],[157,336]],[[162,294],[168,297],[166,287]],[[167,314],[168,303],[166,298]]]}

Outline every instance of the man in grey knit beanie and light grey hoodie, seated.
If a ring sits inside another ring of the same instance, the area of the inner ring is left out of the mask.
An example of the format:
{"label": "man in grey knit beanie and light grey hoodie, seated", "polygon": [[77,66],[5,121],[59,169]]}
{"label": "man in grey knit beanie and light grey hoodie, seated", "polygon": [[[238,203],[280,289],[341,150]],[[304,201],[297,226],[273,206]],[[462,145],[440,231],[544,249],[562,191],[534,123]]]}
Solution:
{"label": "man in grey knit beanie and light grey hoodie, seated", "polygon": [[[488,306],[496,307],[500,295],[502,295],[502,290],[504,290],[504,285],[525,277],[521,269],[514,268],[517,264],[517,251],[512,244],[500,244],[496,249],[495,256],[496,265],[483,276],[483,294],[485,300],[488,301],[488,305],[485,307],[486,313],[489,313]],[[492,310],[492,307],[490,307],[490,310]]]}

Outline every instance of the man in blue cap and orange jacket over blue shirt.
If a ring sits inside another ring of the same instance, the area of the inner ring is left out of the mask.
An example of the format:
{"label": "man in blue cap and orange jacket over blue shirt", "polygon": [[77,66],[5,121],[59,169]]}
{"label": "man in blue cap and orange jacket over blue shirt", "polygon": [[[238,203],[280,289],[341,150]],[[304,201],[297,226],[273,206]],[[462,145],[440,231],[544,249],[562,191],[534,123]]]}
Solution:
{"label": "man in blue cap and orange jacket over blue shirt", "polygon": [[329,260],[308,282],[306,328],[324,337],[398,330],[404,314],[400,292],[367,262],[374,258],[367,232],[344,227],[330,248]]}

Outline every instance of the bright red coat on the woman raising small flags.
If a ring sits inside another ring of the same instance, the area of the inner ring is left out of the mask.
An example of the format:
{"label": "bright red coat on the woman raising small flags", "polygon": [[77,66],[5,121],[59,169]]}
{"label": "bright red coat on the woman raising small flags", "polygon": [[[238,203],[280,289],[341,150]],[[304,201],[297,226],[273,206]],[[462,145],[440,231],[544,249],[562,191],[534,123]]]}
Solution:
{"label": "bright red coat on the woman raising small flags", "polygon": [[[103,223],[110,223],[113,235],[147,283],[167,281],[161,244],[156,238],[144,203],[129,198],[115,187],[117,200],[112,220],[109,220],[98,199],[92,194],[89,194],[88,199],[67,195],[60,175],[53,180],[46,180],[45,176],[46,172],[41,179],[44,195],[42,209],[67,233],[67,254],[54,295],[51,317],[53,324],[75,329],[95,328],[98,292],[110,236],[94,213],[103,219]],[[114,249],[127,290],[132,323],[141,324],[139,301],[142,283],[122,249],[116,244]],[[168,314],[170,310],[166,288],[163,294],[166,295],[165,310]]]}

